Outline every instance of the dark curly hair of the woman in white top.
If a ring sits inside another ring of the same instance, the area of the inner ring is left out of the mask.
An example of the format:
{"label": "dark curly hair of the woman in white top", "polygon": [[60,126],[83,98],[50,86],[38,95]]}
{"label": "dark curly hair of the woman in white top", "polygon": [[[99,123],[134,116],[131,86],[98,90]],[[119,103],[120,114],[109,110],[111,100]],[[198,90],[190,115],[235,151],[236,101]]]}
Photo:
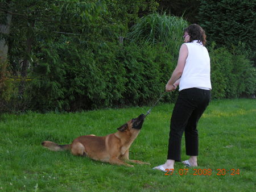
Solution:
{"label": "dark curly hair of the woman in white top", "polygon": [[190,36],[189,42],[198,40],[197,43],[206,44],[206,35],[202,27],[199,24],[191,24],[187,28],[184,28],[184,32],[187,32]]}

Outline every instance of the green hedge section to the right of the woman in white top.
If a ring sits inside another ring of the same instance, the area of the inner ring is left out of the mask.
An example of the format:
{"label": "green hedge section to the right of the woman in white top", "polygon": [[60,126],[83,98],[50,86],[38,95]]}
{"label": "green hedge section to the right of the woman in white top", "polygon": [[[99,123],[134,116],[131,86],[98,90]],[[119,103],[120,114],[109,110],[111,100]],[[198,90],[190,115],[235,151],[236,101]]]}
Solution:
{"label": "green hedge section to the right of the woman in white top", "polygon": [[[213,98],[238,98],[255,92],[255,68],[245,54],[210,47]],[[239,48],[234,47],[238,50]]]}

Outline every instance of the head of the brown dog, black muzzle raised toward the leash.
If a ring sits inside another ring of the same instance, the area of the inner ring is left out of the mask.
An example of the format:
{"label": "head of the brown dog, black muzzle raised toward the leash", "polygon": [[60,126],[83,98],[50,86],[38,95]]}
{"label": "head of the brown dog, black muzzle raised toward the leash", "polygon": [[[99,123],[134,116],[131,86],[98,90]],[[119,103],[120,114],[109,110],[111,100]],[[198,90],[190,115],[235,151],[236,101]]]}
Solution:
{"label": "head of the brown dog, black muzzle raised toward the leash", "polygon": [[138,116],[138,118],[129,120],[129,122],[123,124],[121,127],[117,128],[117,130],[121,132],[125,132],[126,130],[129,130],[129,131],[141,130],[144,122],[144,118],[145,118],[145,115],[141,114]]}

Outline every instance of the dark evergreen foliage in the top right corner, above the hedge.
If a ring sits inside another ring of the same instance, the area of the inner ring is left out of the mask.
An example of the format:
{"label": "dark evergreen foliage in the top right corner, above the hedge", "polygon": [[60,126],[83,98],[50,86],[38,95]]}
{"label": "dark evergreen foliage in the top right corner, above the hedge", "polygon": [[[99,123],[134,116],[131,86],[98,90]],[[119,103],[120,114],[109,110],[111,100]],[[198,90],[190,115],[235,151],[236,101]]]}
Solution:
{"label": "dark evergreen foliage in the top right corner, above the hedge", "polygon": [[254,0],[201,0],[198,18],[208,41],[228,48],[239,42],[246,43],[255,57],[255,6]]}

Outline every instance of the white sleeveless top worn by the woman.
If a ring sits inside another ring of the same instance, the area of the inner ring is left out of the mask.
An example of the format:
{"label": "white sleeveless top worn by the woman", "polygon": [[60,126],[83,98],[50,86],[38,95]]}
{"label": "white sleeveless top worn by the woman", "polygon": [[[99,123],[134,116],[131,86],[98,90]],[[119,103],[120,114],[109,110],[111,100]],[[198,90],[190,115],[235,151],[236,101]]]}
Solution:
{"label": "white sleeveless top worn by the woman", "polygon": [[210,57],[207,48],[202,43],[197,43],[197,40],[185,45],[188,47],[188,57],[180,78],[179,91],[193,87],[211,90]]}

